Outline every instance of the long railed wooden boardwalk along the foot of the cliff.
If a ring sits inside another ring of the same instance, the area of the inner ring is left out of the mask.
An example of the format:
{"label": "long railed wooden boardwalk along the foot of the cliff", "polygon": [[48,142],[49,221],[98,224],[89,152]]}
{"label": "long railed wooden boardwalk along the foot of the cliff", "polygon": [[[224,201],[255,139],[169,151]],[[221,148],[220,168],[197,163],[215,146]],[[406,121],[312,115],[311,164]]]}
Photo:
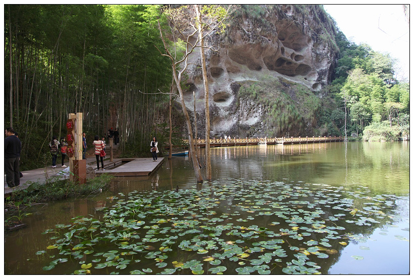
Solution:
{"label": "long railed wooden boardwalk along the foot of the cliff", "polygon": [[[188,147],[188,140],[183,140],[186,145],[180,147]],[[197,139],[199,147],[205,147],[205,139]],[[240,145],[258,145],[258,144],[304,144],[304,143],[320,143],[320,142],[337,142],[344,141],[343,137],[281,137],[281,138],[235,138],[235,139],[210,139],[211,147],[221,146],[240,146]],[[176,145],[175,147],[179,147]],[[169,146],[165,147],[169,149]]]}

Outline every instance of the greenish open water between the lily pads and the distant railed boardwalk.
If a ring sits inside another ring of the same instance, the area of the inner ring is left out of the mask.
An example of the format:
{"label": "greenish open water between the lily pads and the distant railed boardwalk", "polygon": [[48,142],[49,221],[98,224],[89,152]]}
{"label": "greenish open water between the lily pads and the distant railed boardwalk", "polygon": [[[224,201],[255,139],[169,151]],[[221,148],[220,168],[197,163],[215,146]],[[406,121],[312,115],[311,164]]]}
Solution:
{"label": "greenish open water between the lily pads and the distant railed boardwalk", "polygon": [[215,178],[288,179],[408,193],[407,142],[220,147],[212,155]]}

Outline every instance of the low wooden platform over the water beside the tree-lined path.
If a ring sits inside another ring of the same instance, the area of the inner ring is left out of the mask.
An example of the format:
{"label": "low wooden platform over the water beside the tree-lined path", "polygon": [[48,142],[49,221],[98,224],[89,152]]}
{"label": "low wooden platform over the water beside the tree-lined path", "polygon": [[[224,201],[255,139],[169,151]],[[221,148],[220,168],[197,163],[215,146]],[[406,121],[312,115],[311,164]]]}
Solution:
{"label": "low wooden platform over the water beside the tree-lined path", "polygon": [[[164,162],[164,158],[158,158],[157,162],[153,162],[152,158],[125,158],[121,159],[122,165],[114,169],[105,169],[105,171],[97,170],[96,175],[109,173],[113,176],[148,176],[159,168]],[[106,167],[106,166],[105,166]]]}

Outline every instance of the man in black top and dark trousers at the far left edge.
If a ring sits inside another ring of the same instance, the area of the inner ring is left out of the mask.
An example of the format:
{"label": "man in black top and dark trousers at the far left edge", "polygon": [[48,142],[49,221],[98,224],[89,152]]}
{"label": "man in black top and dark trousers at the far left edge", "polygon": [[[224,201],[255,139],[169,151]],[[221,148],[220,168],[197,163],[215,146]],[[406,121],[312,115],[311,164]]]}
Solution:
{"label": "man in black top and dark trousers at the far left edge", "polygon": [[20,151],[21,142],[16,137],[14,129],[9,127],[5,130],[5,173],[9,188],[20,186]]}

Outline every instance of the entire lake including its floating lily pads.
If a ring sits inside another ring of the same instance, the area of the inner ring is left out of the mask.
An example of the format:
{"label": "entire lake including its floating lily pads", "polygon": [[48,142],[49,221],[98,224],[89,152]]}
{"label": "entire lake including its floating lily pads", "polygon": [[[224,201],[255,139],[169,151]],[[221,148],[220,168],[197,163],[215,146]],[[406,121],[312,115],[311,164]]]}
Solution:
{"label": "entire lake including its floating lily pads", "polygon": [[202,185],[173,157],[148,178],[30,207],[28,226],[5,232],[5,274],[409,272],[409,142],[211,151]]}

